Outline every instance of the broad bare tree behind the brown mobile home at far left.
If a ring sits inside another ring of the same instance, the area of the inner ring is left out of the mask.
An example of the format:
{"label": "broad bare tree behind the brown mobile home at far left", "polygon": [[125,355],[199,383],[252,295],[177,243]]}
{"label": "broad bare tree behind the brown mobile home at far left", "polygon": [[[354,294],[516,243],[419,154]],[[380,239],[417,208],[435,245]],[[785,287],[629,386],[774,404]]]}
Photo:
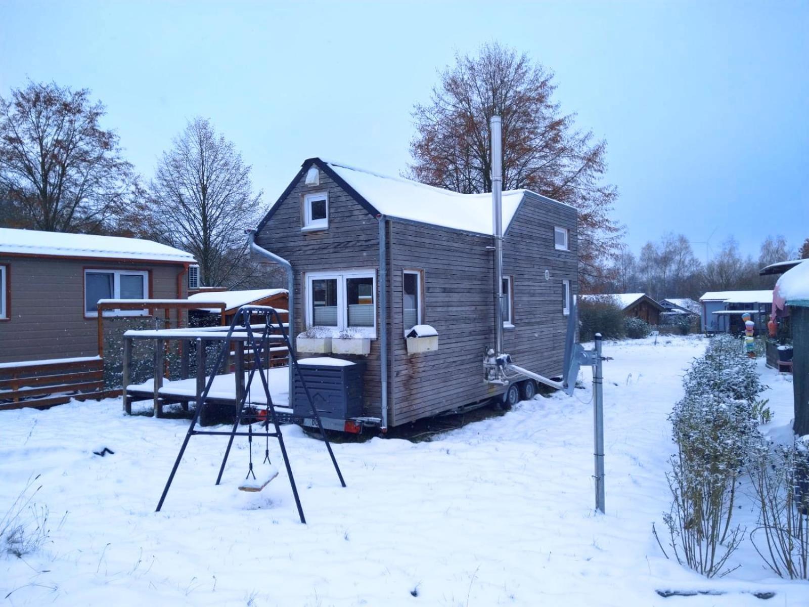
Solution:
{"label": "broad bare tree behind the brown mobile home at far left", "polygon": [[0,97],[0,185],[17,227],[104,231],[129,192],[131,165],[101,128],[90,91],[28,83]]}

